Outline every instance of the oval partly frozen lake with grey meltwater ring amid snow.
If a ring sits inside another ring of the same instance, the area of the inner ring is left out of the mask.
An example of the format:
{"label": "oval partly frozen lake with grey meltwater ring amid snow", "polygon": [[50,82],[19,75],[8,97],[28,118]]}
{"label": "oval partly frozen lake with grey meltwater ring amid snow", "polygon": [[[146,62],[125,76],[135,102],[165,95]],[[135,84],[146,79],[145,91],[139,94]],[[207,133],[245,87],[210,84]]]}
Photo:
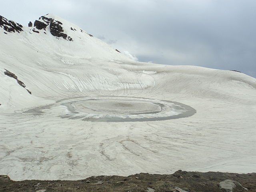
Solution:
{"label": "oval partly frozen lake with grey meltwater ring amid snow", "polygon": [[[74,98],[57,102],[55,106],[65,106],[68,119],[81,119],[92,122],[138,122],[159,121],[192,116],[196,110],[188,105],[168,100],[137,97],[98,96],[95,98]],[[48,105],[49,109],[54,105]],[[41,114],[40,109],[28,112]]]}

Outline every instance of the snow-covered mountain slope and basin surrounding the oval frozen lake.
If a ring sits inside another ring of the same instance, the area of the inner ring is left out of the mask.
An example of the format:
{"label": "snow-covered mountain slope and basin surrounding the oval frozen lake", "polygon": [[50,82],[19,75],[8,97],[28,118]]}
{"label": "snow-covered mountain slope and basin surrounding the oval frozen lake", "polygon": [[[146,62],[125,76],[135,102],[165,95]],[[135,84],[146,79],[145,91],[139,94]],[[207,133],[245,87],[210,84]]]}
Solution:
{"label": "snow-covered mountain slope and basin surrounding the oval frozen lake", "polygon": [[0,174],[256,172],[256,79],[130,60],[58,16],[0,16]]}

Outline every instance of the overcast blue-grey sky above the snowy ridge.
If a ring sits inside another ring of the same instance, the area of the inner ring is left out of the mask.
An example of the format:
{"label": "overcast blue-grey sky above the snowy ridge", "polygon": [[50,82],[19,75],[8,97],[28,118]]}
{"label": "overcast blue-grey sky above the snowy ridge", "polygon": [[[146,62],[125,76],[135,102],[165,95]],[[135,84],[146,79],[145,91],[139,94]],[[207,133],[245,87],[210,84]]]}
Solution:
{"label": "overcast blue-grey sky above the snowy ridge", "polygon": [[256,77],[256,0],[0,0],[22,25],[52,13],[134,59]]}

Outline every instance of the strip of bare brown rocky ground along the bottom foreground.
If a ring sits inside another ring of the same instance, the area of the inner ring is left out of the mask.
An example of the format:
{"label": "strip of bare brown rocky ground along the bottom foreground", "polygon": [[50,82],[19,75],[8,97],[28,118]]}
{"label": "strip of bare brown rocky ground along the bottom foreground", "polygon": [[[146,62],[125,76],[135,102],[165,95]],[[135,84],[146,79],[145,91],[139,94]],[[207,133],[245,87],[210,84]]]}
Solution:
{"label": "strip of bare brown rocky ground along the bottom foreground", "polygon": [[0,176],[0,192],[256,192],[256,173],[186,172],[92,176],[83,180],[13,181]]}

